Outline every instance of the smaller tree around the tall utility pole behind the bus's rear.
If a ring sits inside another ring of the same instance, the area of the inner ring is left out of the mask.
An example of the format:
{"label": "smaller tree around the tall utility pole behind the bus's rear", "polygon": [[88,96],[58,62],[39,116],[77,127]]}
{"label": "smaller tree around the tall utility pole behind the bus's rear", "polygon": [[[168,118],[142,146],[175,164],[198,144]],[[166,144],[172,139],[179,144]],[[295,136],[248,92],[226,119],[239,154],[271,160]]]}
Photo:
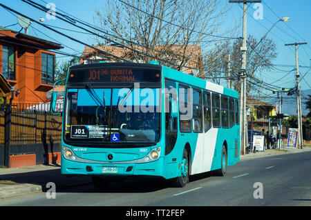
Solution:
{"label": "smaller tree around the tall utility pole behind the bus's rear", "polygon": [[[265,72],[272,68],[272,61],[276,58],[276,44],[271,39],[264,38],[258,45],[258,40],[249,35],[247,38],[247,96],[257,98],[260,96],[261,82],[258,78],[261,77],[261,72]],[[242,41],[238,39],[233,43],[223,43],[220,49],[216,49],[210,52],[206,66],[209,70],[206,71],[206,75],[214,77],[214,82],[220,83],[221,77],[227,76],[227,62],[228,54],[231,57],[231,69],[232,69],[232,85],[234,90],[240,90],[240,81],[238,74],[241,71],[242,65]],[[214,54],[214,55],[213,55]],[[218,79],[217,79],[218,77]],[[218,81],[217,81],[218,80]]]}

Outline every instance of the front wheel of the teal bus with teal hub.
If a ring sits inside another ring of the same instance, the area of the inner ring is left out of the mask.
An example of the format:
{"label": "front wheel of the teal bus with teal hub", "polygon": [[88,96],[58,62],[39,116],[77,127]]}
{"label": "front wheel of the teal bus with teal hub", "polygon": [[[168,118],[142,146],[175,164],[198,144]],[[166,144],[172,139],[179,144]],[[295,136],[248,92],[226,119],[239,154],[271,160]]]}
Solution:
{"label": "front wheel of the teal bus with teal hub", "polygon": [[173,187],[182,188],[189,182],[189,154],[187,149],[182,152],[182,162],[180,164],[180,177],[176,177],[172,181]]}

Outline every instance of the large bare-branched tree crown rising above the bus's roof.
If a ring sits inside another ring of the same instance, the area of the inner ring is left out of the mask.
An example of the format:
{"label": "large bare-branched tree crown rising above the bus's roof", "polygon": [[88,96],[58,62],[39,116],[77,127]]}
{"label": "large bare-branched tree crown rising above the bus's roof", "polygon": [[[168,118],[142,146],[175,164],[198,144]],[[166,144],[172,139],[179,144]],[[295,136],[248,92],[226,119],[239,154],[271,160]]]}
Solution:
{"label": "large bare-branched tree crown rising above the bus's roof", "polygon": [[228,8],[228,3],[223,6],[218,0],[109,0],[95,19],[97,26],[111,33],[104,34],[109,40],[103,44],[117,42],[138,51],[131,55],[135,61],[148,63],[156,57],[182,70],[193,59],[190,46],[205,50],[223,39],[214,33],[221,29]]}

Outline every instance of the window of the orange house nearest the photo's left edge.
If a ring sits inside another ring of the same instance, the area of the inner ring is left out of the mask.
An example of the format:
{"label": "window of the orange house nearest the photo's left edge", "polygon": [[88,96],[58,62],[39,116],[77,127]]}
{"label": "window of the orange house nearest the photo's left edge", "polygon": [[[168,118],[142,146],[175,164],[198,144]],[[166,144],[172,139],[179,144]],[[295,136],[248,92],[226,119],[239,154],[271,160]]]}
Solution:
{"label": "window of the orange house nearest the photo's left edge", "polygon": [[15,50],[12,47],[2,47],[2,73],[6,79],[15,80]]}

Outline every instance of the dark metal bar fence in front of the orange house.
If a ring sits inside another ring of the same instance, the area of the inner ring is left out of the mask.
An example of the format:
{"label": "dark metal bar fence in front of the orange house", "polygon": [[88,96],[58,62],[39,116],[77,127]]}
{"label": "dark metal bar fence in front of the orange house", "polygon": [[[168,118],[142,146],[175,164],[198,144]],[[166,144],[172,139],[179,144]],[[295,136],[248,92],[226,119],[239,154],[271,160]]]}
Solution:
{"label": "dark metal bar fence in front of the orange house", "polygon": [[0,106],[0,167],[10,166],[10,155],[36,154],[38,164],[46,162],[48,152],[60,151],[62,114],[51,114],[47,105]]}

